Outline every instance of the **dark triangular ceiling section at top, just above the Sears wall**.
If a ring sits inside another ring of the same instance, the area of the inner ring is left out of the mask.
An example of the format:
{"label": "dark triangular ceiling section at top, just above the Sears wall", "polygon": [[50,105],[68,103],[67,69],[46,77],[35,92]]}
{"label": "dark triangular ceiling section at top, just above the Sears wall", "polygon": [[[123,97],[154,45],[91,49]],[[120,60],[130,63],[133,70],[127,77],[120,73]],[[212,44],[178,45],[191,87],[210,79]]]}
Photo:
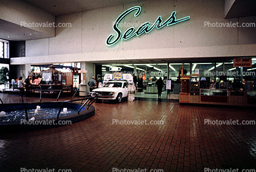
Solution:
{"label": "dark triangular ceiling section at top, just above the Sears wall", "polygon": [[55,16],[147,0],[24,0]]}

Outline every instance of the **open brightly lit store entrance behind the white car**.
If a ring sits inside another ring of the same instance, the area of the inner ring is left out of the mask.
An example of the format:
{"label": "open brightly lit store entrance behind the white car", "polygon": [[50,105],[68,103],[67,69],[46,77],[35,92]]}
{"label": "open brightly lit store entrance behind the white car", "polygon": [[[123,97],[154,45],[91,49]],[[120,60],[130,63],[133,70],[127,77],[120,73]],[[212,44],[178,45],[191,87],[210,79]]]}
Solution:
{"label": "open brightly lit store entrance behind the white car", "polygon": [[132,74],[136,89],[135,98],[167,99],[167,63],[102,65],[102,77],[108,73]]}

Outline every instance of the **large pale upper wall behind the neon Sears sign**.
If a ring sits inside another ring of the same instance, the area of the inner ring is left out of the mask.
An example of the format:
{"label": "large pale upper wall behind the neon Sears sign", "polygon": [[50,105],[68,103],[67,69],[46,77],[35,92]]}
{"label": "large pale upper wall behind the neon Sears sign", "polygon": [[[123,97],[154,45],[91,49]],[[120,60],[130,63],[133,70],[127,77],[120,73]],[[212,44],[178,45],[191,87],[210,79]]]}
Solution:
{"label": "large pale upper wall behind the neon Sears sign", "polygon": [[[48,62],[89,62],[140,58],[255,56],[256,27],[205,26],[205,23],[256,21],[256,16],[224,19],[224,4],[222,0],[145,1],[58,16],[58,22],[72,22],[72,27],[56,28],[54,38],[26,41],[26,56],[38,59],[39,63],[45,59]],[[137,26],[146,21],[154,23],[159,15],[165,21],[174,10],[177,19],[190,16],[190,20],[154,29],[149,34],[130,40],[121,40],[111,47],[105,45],[110,34],[116,35],[112,28],[116,18],[135,5],[141,6],[141,14],[137,17],[134,12],[127,15],[121,22],[124,26],[121,28],[122,33],[132,24]],[[21,61],[15,59],[11,63]]]}

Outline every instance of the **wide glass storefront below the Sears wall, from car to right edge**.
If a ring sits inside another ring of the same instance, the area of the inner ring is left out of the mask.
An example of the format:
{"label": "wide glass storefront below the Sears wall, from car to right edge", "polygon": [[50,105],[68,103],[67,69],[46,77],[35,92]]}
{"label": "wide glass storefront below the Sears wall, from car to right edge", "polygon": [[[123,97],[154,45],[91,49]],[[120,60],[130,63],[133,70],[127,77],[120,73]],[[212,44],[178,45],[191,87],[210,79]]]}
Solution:
{"label": "wide glass storefront below the Sears wall, from car to right edge", "polygon": [[[141,64],[107,64],[102,65],[102,76],[107,73],[131,73],[135,77],[135,85],[143,79],[143,92],[156,93],[156,90],[149,89],[154,86],[157,79],[167,80],[167,63],[141,63]],[[192,82],[198,89],[220,89],[220,90],[255,90],[256,80],[256,58],[252,58],[251,67],[233,67],[233,59],[226,59],[224,62],[194,62],[194,63],[169,63],[169,80],[173,83],[168,94],[178,95],[181,91],[179,70],[183,68],[184,74],[190,77],[189,87],[193,87]],[[195,76],[195,78],[191,77]],[[198,78],[197,78],[198,77]],[[199,84],[200,83],[200,84]],[[194,90],[193,90],[194,89]],[[192,95],[200,95],[197,88],[189,89]]]}

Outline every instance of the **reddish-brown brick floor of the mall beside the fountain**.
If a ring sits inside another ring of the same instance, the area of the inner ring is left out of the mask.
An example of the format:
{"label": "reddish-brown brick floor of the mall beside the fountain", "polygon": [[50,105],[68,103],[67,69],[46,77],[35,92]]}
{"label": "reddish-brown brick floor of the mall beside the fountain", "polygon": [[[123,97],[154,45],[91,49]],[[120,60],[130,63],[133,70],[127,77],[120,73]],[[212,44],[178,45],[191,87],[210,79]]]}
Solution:
{"label": "reddish-brown brick floor of the mall beside the fountain", "polygon": [[[0,98],[20,101],[14,95],[0,94]],[[255,125],[204,124],[205,119],[255,121],[254,109],[185,106],[168,101],[93,105],[96,114],[79,123],[1,134],[0,171],[256,168]],[[121,125],[113,124],[113,119],[162,120],[164,124]]]}

